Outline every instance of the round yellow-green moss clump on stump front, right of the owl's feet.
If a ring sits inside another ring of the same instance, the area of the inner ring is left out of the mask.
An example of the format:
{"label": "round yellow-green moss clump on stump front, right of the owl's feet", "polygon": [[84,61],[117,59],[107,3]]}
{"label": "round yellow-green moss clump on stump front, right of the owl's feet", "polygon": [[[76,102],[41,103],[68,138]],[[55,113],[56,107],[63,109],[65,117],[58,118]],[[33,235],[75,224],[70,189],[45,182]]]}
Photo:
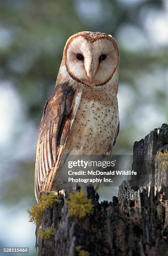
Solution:
{"label": "round yellow-green moss clump on stump front, right of the owl's feet", "polygon": [[69,216],[74,216],[79,219],[85,218],[86,215],[93,213],[92,200],[87,199],[87,196],[82,190],[77,192],[75,195],[69,194],[69,201],[67,205],[69,207]]}

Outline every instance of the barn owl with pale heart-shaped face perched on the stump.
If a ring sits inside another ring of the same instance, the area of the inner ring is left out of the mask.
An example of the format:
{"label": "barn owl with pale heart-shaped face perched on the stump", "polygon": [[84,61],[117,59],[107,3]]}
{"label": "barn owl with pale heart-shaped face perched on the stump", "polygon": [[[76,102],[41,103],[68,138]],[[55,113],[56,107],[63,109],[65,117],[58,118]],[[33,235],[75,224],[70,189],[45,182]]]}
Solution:
{"label": "barn owl with pale heart-shaped face perched on the stump", "polygon": [[80,32],[64,47],[56,86],[38,135],[35,195],[61,190],[56,174],[67,155],[111,154],[119,133],[119,49],[111,35]]}

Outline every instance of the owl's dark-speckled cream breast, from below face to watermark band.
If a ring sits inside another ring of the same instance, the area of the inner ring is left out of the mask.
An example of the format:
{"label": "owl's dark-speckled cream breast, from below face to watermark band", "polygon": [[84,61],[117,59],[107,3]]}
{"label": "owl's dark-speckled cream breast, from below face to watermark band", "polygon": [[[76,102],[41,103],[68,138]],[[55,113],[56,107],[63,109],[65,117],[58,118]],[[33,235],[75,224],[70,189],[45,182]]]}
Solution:
{"label": "owl's dark-speckled cream breast, from below face to watermark band", "polygon": [[106,154],[119,123],[118,102],[110,85],[83,87],[74,123],[66,141],[65,154]]}

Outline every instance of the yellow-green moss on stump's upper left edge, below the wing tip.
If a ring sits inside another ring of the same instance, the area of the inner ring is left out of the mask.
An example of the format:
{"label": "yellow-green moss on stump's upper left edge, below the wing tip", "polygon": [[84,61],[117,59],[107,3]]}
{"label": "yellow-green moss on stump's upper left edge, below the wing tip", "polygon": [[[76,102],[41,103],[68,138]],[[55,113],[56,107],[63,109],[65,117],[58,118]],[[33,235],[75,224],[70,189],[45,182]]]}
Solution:
{"label": "yellow-green moss on stump's upper left edge, below the wing tip", "polygon": [[45,208],[53,207],[53,203],[58,201],[54,199],[56,196],[53,194],[43,194],[37,205],[33,205],[31,209],[28,209],[29,221],[36,224],[37,227],[41,224],[41,215]]}

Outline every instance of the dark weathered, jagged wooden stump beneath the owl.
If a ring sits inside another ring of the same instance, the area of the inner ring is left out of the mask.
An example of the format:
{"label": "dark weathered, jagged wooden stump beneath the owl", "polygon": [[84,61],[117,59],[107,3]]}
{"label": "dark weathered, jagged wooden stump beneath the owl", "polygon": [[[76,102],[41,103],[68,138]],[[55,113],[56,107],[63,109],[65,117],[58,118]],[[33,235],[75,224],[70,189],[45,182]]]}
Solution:
{"label": "dark weathered, jagged wooden stump beneath the owl", "polygon": [[44,230],[53,228],[56,234],[46,241],[39,239],[39,254],[168,256],[167,152],[168,125],[163,124],[134,143],[132,169],[138,184],[135,178],[123,181],[118,198],[101,203],[93,187],[88,187],[94,213],[83,220],[69,217],[66,200],[58,197],[60,202],[46,209],[41,220]]}

